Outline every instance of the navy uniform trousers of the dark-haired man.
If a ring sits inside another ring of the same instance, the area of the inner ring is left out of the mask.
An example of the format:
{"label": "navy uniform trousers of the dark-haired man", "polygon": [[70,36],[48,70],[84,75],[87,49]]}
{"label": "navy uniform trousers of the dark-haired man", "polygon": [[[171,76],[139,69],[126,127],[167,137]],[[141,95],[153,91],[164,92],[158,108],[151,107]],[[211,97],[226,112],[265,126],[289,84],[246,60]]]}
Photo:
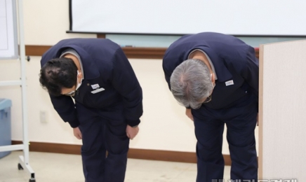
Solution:
{"label": "navy uniform trousers of the dark-haired man", "polygon": [[129,139],[123,106],[99,111],[76,104],[76,110],[86,182],[124,182]]}

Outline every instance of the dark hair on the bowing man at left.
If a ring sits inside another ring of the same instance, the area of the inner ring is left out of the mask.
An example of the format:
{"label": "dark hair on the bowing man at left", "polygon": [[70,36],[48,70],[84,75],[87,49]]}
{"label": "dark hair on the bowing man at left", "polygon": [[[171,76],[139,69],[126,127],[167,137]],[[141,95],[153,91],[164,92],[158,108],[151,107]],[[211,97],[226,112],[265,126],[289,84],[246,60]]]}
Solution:
{"label": "dark hair on the bowing man at left", "polygon": [[41,67],[39,82],[49,94],[60,96],[62,88],[76,85],[77,67],[72,59],[62,57],[51,59]]}

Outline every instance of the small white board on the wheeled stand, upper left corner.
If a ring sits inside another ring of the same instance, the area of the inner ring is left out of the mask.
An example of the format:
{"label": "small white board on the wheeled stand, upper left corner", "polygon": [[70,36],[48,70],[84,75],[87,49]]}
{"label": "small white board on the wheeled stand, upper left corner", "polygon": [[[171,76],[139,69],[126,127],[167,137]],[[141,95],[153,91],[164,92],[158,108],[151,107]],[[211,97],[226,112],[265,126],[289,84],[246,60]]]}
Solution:
{"label": "small white board on the wheeled stand, upper left corner", "polygon": [[0,0],[0,59],[18,58],[15,0]]}

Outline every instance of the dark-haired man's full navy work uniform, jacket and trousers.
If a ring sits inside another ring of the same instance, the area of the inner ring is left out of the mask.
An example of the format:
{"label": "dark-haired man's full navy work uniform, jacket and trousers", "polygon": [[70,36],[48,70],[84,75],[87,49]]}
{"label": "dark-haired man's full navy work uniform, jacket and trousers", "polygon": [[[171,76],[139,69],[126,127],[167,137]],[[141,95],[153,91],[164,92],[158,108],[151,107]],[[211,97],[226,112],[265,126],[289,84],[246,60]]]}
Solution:
{"label": "dark-haired man's full navy work uniform, jacket and trousers", "polygon": [[[51,102],[62,120],[79,127],[86,182],[124,181],[129,139],[126,126],[142,116],[142,89],[120,46],[102,38],[65,39],[41,58],[41,66],[65,52],[78,57],[84,79],[72,97]],[[107,154],[106,154],[107,151]]]}

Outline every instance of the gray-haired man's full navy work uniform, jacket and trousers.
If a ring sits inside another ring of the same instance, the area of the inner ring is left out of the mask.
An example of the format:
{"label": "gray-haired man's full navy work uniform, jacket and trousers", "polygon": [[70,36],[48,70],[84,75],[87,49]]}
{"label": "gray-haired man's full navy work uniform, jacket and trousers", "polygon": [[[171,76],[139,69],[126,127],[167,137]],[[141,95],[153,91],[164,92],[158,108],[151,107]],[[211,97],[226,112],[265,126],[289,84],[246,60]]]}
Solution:
{"label": "gray-haired man's full navy work uniform, jacket and trousers", "polygon": [[163,68],[170,85],[173,70],[192,51],[204,52],[215,73],[211,102],[192,109],[197,137],[197,181],[223,179],[222,134],[232,159],[231,179],[258,179],[255,125],[258,113],[258,59],[254,49],[225,34],[204,32],[182,36],[166,50]]}

